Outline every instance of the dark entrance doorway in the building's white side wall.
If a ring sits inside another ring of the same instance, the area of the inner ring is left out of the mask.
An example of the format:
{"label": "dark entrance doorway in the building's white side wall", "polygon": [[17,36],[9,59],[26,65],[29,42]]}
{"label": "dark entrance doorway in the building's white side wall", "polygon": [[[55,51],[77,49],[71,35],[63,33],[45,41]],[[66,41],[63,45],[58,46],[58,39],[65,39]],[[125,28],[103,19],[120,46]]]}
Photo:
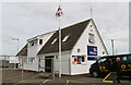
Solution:
{"label": "dark entrance doorway in the building's white side wall", "polygon": [[51,59],[53,56],[45,57],[45,72],[51,72]]}

